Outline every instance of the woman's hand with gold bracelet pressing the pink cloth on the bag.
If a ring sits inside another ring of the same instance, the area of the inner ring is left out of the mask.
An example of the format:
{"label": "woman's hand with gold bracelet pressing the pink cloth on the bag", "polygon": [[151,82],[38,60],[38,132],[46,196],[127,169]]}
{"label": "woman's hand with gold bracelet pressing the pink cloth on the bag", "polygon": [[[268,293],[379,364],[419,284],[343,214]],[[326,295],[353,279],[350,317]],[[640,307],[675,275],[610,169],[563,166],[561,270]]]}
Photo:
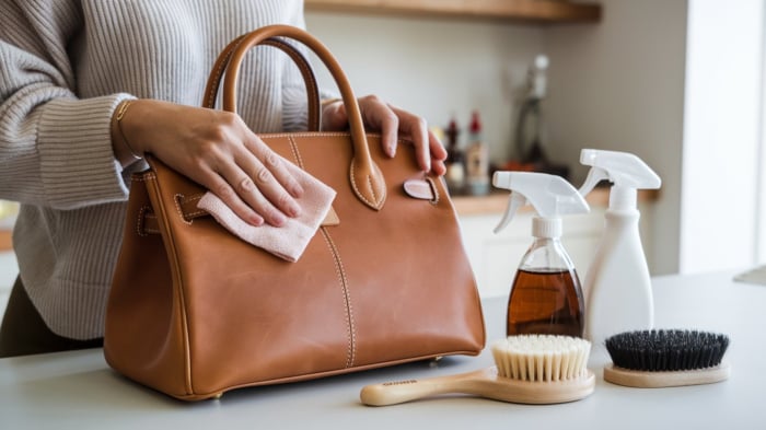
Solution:
{"label": "woman's hand with gold bracelet pressing the pink cloth on the bag", "polygon": [[130,103],[112,128],[115,153],[124,137],[131,151],[150,152],[253,225],[279,226],[299,214],[295,198],[303,189],[237,115],[155,100]]}

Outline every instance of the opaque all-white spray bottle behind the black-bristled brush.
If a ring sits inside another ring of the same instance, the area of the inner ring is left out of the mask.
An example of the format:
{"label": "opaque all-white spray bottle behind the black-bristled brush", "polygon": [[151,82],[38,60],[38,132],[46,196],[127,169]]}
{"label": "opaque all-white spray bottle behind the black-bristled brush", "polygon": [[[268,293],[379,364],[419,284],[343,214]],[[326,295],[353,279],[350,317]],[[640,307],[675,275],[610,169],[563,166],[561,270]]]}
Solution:
{"label": "opaque all-white spray bottle behind the black-bristled brush", "polygon": [[604,232],[585,276],[585,338],[603,346],[607,337],[654,325],[654,303],[647,258],[638,233],[638,189],[660,188],[660,177],[627,152],[583,149],[580,163],[590,165],[580,194],[601,181],[612,184]]}

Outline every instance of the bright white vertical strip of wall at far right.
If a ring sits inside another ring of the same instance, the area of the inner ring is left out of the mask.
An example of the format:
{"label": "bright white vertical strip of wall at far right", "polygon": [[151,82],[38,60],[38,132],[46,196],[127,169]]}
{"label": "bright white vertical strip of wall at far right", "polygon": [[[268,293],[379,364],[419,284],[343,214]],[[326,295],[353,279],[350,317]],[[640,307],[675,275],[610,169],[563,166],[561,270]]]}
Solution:
{"label": "bright white vertical strip of wall at far right", "polygon": [[757,263],[763,20],[762,0],[689,2],[681,272]]}

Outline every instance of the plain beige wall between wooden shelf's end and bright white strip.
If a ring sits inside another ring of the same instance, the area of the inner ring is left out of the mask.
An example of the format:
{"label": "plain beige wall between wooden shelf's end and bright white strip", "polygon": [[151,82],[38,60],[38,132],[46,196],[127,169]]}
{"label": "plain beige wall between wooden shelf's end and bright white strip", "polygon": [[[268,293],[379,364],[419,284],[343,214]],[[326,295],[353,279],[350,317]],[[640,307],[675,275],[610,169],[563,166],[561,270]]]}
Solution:
{"label": "plain beige wall between wooden shelf's end and bright white strip", "polygon": [[[678,269],[686,2],[603,0],[597,25],[548,30],[548,118],[559,161],[583,147],[628,151],[661,177],[645,243],[652,274]],[[584,167],[574,181],[584,178]]]}

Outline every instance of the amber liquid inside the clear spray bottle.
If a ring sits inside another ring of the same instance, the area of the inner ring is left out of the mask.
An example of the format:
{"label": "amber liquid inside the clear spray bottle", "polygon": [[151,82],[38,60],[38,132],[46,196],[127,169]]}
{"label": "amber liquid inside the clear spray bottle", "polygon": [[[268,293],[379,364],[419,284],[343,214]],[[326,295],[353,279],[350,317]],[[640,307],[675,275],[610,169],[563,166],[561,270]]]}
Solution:
{"label": "amber liquid inside the clear spray bottle", "polygon": [[508,300],[508,336],[582,337],[582,289],[574,270],[519,270]]}

